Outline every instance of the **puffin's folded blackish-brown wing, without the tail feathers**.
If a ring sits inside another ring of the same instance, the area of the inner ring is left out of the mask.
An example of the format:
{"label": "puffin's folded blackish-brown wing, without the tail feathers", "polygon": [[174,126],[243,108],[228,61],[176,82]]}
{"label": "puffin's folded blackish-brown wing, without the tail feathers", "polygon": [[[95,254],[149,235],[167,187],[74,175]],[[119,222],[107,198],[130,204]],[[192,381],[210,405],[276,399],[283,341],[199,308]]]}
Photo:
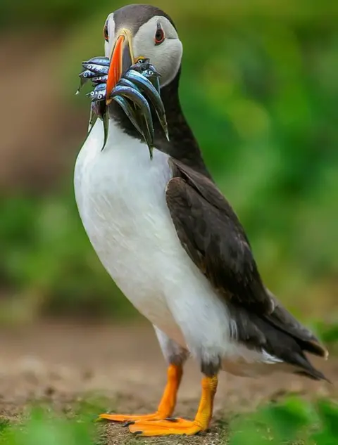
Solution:
{"label": "puffin's folded blackish-brown wing, without the tail feathers", "polygon": [[166,201],[177,236],[220,295],[259,314],[273,311],[244,229],[215,184],[171,159]]}

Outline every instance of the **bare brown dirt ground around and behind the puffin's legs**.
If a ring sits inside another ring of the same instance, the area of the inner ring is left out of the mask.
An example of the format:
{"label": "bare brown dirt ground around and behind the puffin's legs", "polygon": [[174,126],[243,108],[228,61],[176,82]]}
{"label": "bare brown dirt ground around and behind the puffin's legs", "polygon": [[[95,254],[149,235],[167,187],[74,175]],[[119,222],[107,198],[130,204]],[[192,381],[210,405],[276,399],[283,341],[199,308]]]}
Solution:
{"label": "bare brown dirt ground around and behind the puffin's legs", "polygon": [[[0,330],[0,415],[15,419],[32,401],[67,409],[90,394],[104,396],[106,409],[120,413],[154,411],[165,384],[165,363],[151,326],[41,323]],[[337,382],[338,360],[315,361]],[[198,366],[189,361],[177,415],[194,415],[199,401]],[[220,418],[254,409],[285,392],[338,397],[336,385],[289,375],[251,380],[222,373],[215,400],[215,420],[204,437],[170,444],[217,444]],[[71,409],[71,408],[70,408]],[[104,443],[127,443],[120,425],[104,425]],[[133,439],[134,440],[134,439]],[[176,440],[176,439],[174,439]],[[149,442],[151,442],[150,440]],[[158,443],[158,441],[156,441]],[[168,439],[161,443],[168,443]]]}

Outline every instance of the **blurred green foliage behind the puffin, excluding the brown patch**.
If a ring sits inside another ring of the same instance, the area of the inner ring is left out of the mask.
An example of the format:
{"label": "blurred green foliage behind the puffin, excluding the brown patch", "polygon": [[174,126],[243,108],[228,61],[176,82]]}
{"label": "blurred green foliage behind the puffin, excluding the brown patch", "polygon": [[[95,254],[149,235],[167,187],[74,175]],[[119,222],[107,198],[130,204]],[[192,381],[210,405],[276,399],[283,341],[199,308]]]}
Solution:
{"label": "blurred green foliage behind the puffin, excluding the brown patch", "polygon": [[[338,3],[152,3],[177,24],[183,108],[267,285],[288,296],[297,315],[311,297],[320,311],[326,294],[337,299]],[[56,60],[63,60],[60,93],[80,111],[88,108],[73,94],[80,62],[102,53],[106,15],[122,4],[1,0],[0,29],[53,30]],[[23,296],[15,299],[20,307],[32,301],[53,312],[121,314],[127,303],[96,259],[73,191],[61,189],[44,198],[0,199],[0,286]]]}

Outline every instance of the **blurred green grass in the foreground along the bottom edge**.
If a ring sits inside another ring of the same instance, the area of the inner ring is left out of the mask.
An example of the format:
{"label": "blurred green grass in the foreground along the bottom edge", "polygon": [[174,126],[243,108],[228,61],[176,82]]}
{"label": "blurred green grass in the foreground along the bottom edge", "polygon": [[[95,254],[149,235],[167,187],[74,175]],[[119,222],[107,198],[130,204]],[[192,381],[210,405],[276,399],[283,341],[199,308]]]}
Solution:
{"label": "blurred green grass in the foreground along the bottom edge", "polygon": [[[80,408],[80,409],[79,409]],[[27,420],[20,423],[0,421],[0,444],[6,445],[106,445],[107,438],[95,423],[93,415],[99,406],[90,402],[78,406],[73,418],[33,408]],[[122,428],[122,427],[121,427]],[[320,399],[313,403],[290,397],[278,404],[263,406],[256,413],[238,415],[218,422],[218,435],[208,435],[212,443],[227,445],[335,445],[338,438],[338,405]],[[112,439],[114,439],[112,437]],[[177,438],[142,439],[125,434],[111,443],[125,445],[177,443]],[[204,437],[193,443],[205,444]],[[179,438],[180,444],[192,443]]]}

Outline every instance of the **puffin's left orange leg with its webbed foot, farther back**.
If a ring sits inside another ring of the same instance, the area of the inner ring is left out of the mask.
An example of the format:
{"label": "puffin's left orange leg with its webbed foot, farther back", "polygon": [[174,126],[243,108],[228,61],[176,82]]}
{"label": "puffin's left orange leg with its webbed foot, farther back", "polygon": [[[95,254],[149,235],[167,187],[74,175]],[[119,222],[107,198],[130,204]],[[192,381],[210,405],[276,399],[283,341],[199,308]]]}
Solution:
{"label": "puffin's left orange leg with its webbed foot, farther back", "polygon": [[143,420],[161,420],[173,415],[176,396],[182,379],[182,365],[170,365],[168,367],[168,381],[165,386],[162,399],[157,411],[151,414],[130,415],[130,414],[101,414],[100,419],[111,420],[113,422],[134,422]]}

